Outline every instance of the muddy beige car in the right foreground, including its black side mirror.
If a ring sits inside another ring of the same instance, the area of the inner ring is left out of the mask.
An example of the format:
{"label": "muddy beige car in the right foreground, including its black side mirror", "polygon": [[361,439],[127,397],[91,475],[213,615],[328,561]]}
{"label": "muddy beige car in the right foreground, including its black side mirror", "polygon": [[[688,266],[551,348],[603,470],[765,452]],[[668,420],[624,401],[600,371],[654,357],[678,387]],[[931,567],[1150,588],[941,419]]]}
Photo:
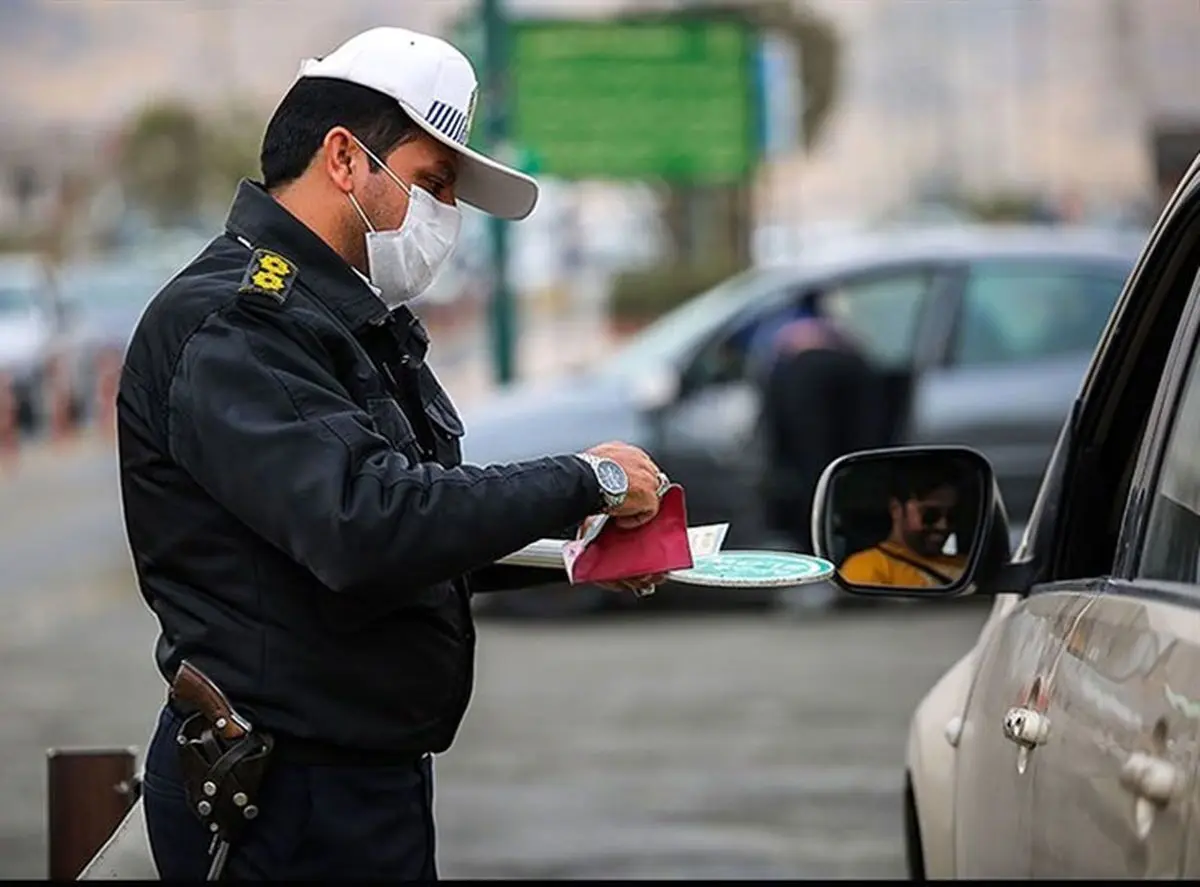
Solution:
{"label": "muddy beige car in the right foreground, including its black side mirror", "polygon": [[924,477],[942,472],[925,487],[944,480],[936,495],[954,501],[925,515],[954,551],[925,556],[960,576],[851,586],[839,574],[842,588],[995,595],[973,649],[913,715],[916,879],[1200,876],[1200,160],[1080,383],[1012,555],[1003,463],[977,450],[853,454],[822,478],[814,531],[839,564],[858,557],[842,543],[871,502],[893,535],[922,514],[878,489],[877,471],[919,459]]}

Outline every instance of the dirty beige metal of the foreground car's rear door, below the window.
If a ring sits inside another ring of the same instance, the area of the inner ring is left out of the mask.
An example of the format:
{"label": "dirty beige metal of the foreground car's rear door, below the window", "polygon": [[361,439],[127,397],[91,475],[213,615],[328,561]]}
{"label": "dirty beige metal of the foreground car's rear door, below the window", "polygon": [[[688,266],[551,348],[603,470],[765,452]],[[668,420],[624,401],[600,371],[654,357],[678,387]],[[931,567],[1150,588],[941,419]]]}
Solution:
{"label": "dirty beige metal of the foreground car's rear door, below the window", "polygon": [[[1120,586],[1064,605],[1079,616],[1058,639],[1046,676],[1051,726],[1033,753],[1032,875],[1178,877],[1189,796],[1139,807],[1121,774],[1141,753],[1195,785],[1200,705],[1190,700],[1200,699],[1200,613],[1128,597]],[[1148,831],[1139,834],[1139,817],[1147,816]]]}

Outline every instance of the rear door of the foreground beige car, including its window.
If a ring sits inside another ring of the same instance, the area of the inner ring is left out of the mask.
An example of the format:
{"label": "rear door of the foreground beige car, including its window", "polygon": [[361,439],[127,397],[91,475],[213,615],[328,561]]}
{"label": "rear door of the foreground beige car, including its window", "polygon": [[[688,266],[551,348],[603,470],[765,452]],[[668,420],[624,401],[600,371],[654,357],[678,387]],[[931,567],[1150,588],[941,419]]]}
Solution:
{"label": "rear door of the foreground beige car, including its window", "polygon": [[[1080,618],[1045,676],[1034,877],[1178,877],[1200,737],[1200,281],[1154,396],[1111,579],[1080,588]],[[1190,856],[1189,856],[1190,851]]]}

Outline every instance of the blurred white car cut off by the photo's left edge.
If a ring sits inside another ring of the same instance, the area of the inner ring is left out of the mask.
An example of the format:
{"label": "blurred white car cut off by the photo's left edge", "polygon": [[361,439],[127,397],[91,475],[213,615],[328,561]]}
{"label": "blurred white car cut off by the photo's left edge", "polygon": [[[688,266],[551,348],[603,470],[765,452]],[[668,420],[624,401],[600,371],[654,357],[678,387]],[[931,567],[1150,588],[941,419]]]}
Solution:
{"label": "blurred white car cut off by the photo's left edge", "polygon": [[44,414],[43,379],[58,344],[53,281],[34,256],[0,259],[0,373],[8,376],[22,427]]}

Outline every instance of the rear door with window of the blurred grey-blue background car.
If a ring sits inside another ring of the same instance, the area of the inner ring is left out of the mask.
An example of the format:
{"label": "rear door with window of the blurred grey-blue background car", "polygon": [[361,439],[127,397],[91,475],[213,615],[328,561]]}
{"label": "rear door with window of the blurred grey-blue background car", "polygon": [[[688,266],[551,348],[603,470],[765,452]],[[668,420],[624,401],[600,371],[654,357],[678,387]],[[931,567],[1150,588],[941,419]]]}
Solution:
{"label": "rear door with window of the blurred grey-blue background car", "polygon": [[1127,270],[1080,259],[968,264],[948,353],[917,384],[907,438],[980,450],[1010,517],[1027,520]]}

